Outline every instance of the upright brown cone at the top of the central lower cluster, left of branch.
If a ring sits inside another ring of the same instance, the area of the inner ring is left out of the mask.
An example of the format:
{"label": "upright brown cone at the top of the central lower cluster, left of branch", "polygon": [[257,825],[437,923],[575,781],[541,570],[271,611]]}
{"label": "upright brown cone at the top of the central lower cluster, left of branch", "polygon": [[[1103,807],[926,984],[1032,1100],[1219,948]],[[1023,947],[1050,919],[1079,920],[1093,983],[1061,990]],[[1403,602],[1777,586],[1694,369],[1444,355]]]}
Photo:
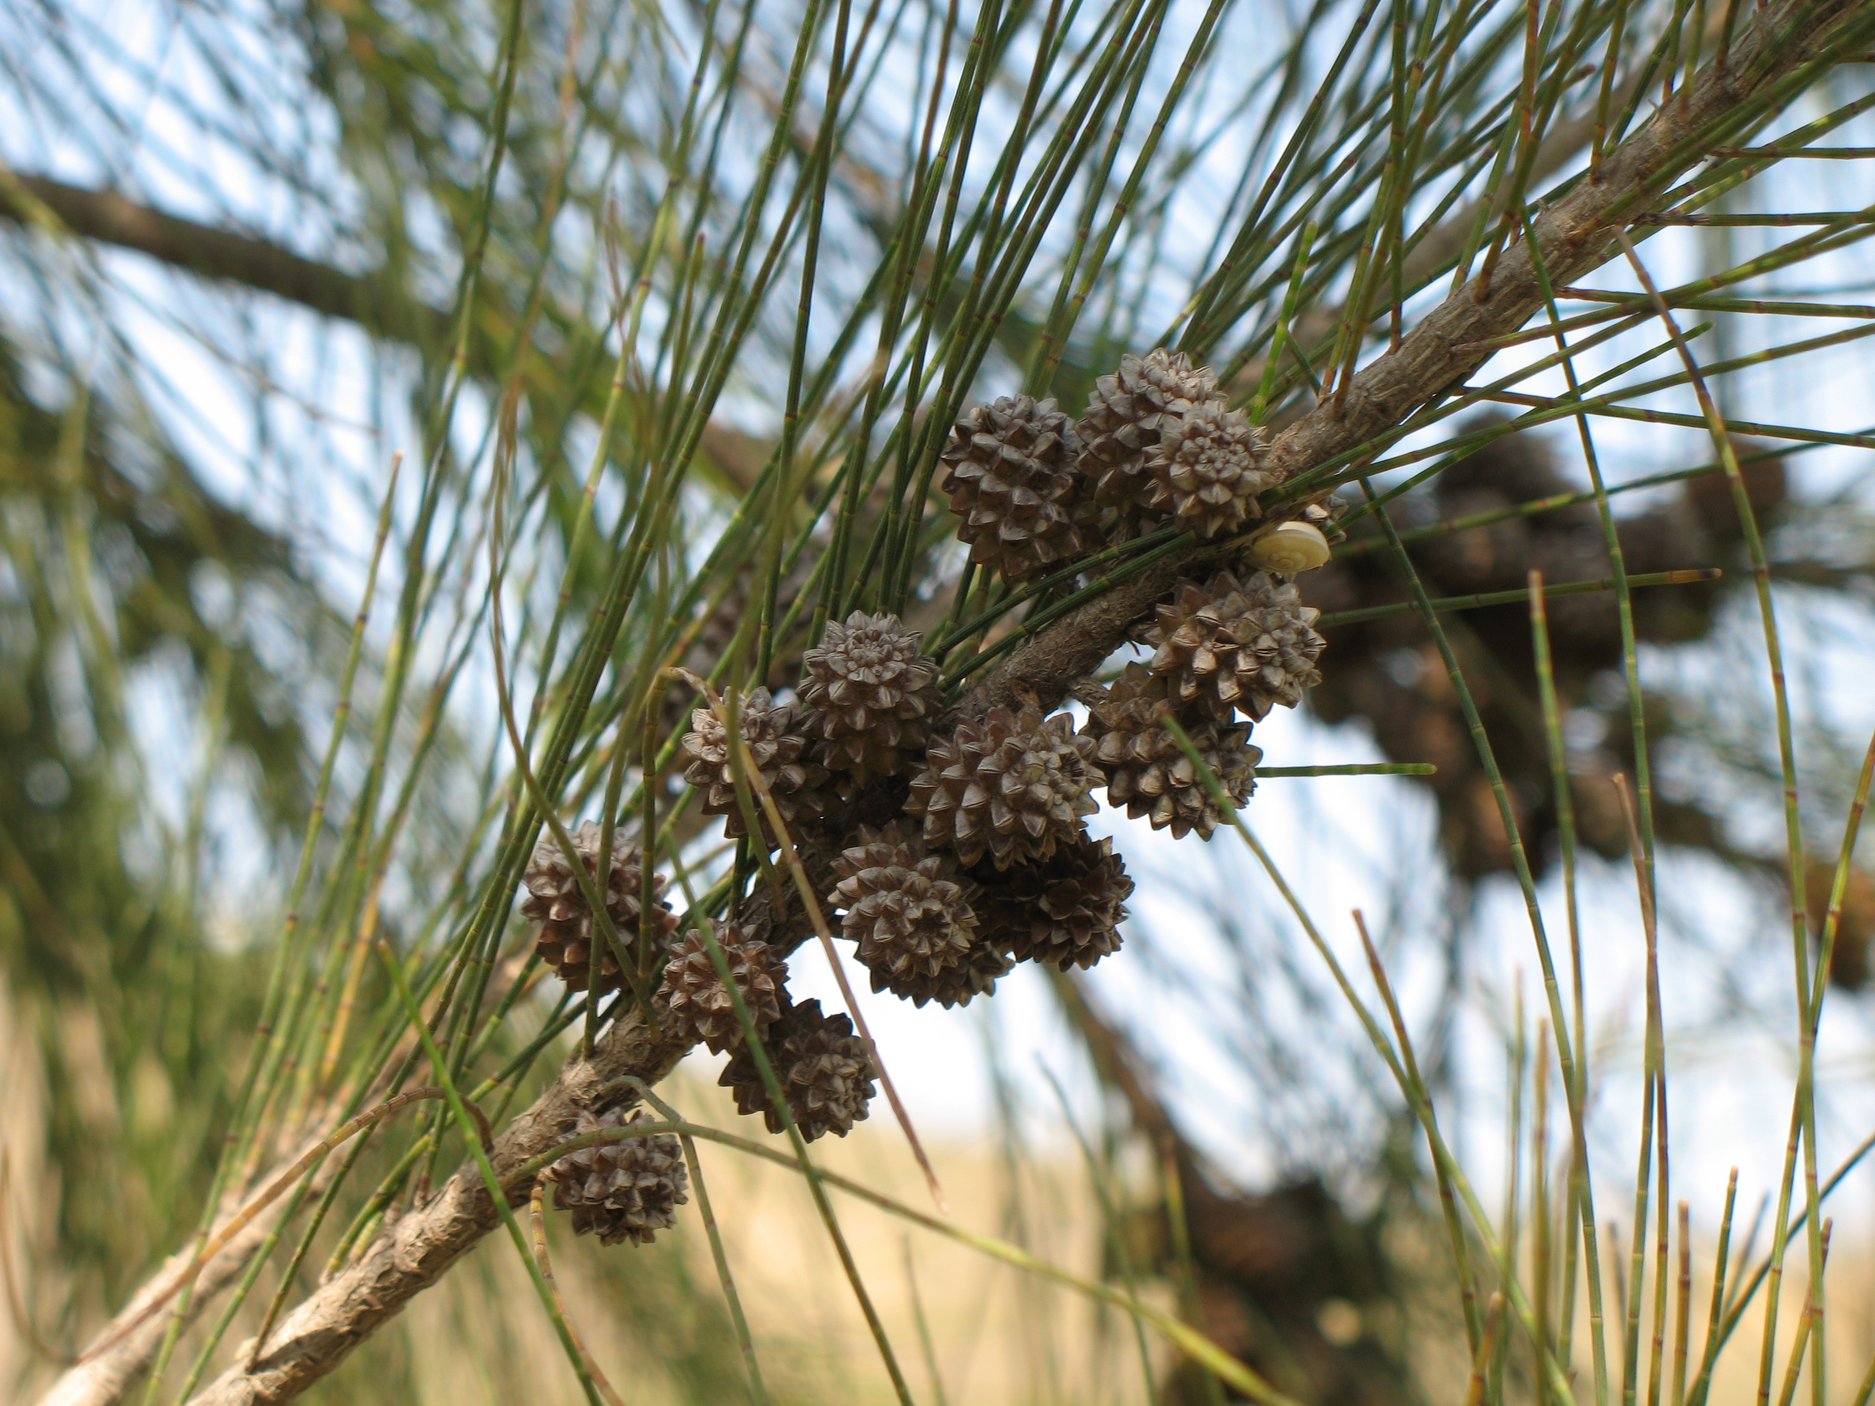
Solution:
{"label": "upright brown cone at the top of the central lower cluster, left of branch", "polygon": [[853,611],[802,656],[801,705],[834,770],[866,782],[892,776],[924,750],[941,703],[938,664],[919,654],[919,634],[896,615]]}

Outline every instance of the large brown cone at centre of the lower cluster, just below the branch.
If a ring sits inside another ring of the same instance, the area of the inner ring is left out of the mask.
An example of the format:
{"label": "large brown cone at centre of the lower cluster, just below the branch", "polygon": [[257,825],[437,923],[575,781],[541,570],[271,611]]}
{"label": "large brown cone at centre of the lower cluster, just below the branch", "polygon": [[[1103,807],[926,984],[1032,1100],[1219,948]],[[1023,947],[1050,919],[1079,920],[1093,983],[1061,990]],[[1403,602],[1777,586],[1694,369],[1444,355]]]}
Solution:
{"label": "large brown cone at centre of the lower cluster, just below the branch", "polygon": [[964,864],[988,857],[1009,868],[1078,838],[1104,780],[1069,714],[990,709],[930,744],[906,810],[922,819],[924,844],[947,845]]}

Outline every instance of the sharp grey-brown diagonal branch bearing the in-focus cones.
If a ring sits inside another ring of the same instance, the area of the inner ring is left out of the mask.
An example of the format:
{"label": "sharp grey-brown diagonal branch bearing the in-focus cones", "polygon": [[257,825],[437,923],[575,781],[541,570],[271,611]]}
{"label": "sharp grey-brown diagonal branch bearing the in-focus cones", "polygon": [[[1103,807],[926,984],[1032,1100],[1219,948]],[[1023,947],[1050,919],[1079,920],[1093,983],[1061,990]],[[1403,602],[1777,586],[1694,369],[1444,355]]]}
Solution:
{"label": "sharp grey-brown diagonal branch bearing the in-focus cones", "polygon": [[[1702,159],[1702,148],[1712,144],[1740,105],[1813,62],[1830,30],[1860,13],[1864,4],[1785,0],[1753,7],[1749,19],[1740,17],[1723,71],[1708,64],[1665,109],[1607,154],[1598,180],[1579,180],[1538,217],[1536,238],[1549,277],[1554,283],[1573,281],[1605,262],[1612,253],[1612,232],[1658,212],[1665,189]],[[1862,34],[1854,37],[1866,39]],[[1736,139],[1738,133],[1725,135]],[[1356,375],[1342,396],[1288,426],[1269,452],[1277,474],[1292,478],[1402,424],[1489,360],[1491,352],[1481,351],[1481,343],[1522,328],[1541,306],[1536,261],[1528,247],[1517,244],[1498,259],[1489,285],[1474,277],[1399,347]],[[968,707],[982,710],[1024,696],[1059,701],[1076,679],[1125,641],[1127,630],[1172,589],[1181,572],[1202,566],[1215,553],[1215,547],[1192,547],[1039,630],[971,692]],[[656,1082],[681,1054],[636,1020],[621,1024],[606,1035],[592,1061],[568,1063],[555,1084],[502,1132],[491,1153],[497,1172],[512,1177],[518,1166],[553,1147],[574,1112],[600,1085],[624,1074]],[[519,1183],[504,1185],[504,1190],[510,1200],[527,1192]],[[279,1324],[251,1367],[244,1352],[240,1363],[195,1399],[195,1406],[292,1400],[497,1224],[499,1211],[480,1174],[472,1164],[463,1166],[431,1202],[371,1245],[362,1260],[309,1294]],[[54,1389],[47,1400],[107,1406],[114,1397],[58,1397]]]}

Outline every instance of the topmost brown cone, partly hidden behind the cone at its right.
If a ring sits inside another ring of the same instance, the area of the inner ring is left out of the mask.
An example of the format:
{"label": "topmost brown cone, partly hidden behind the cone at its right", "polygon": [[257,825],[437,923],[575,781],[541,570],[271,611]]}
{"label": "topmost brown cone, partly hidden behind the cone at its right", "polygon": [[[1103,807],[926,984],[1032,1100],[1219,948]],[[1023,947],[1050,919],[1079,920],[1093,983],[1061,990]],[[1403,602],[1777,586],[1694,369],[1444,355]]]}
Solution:
{"label": "topmost brown cone, partly hidden behind the cone at its right", "polygon": [[1148,457],[1168,429],[1215,397],[1217,379],[1164,347],[1121,356],[1119,371],[1093,382],[1080,420],[1080,471],[1091,480],[1089,506],[1099,510],[1108,540],[1140,529],[1151,497]]}

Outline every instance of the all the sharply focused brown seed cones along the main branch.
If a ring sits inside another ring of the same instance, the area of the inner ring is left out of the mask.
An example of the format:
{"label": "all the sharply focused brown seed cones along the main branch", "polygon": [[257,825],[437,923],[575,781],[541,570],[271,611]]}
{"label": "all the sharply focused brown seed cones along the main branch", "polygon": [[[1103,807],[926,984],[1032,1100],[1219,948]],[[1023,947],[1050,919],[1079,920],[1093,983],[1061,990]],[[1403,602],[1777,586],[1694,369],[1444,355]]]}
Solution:
{"label": "all the sharply focused brown seed cones along the main branch", "polygon": [[[1164,525],[1247,531],[1273,484],[1249,420],[1166,351],[1102,377],[1078,426],[1054,401],[1005,397],[966,412],[943,450],[958,534],[1012,583]],[[1181,581],[1146,626],[1149,660],[1082,692],[1080,727],[1033,705],[949,710],[919,634],[855,611],[804,652],[791,701],[756,688],[699,707],[684,780],[729,836],[791,849],[876,992],[954,1007],[1016,962],[1088,967],[1119,947],[1132,892],[1112,842],[1086,830],[1097,795],[1176,836],[1209,836],[1249,799],[1251,727],[1318,677],[1318,613],[1288,577],[1326,559],[1328,521],[1311,508],[1264,529],[1249,549],[1264,570]],[[523,913],[540,924],[540,956],[606,992],[654,943],[668,952],[654,1005],[673,1035],[729,1055],[720,1084],[742,1114],[806,1138],[866,1117],[866,1042],[848,1016],[788,994],[786,952],[810,915],[758,885],[729,919],[675,935],[641,853],[621,844],[604,864],[598,847],[598,827],[579,827],[583,883],[551,838],[536,849]],[[604,898],[598,932],[589,896]],[[557,1204],[602,1239],[649,1239],[682,1200],[681,1174],[656,1136],[624,1136],[555,1164]]]}

